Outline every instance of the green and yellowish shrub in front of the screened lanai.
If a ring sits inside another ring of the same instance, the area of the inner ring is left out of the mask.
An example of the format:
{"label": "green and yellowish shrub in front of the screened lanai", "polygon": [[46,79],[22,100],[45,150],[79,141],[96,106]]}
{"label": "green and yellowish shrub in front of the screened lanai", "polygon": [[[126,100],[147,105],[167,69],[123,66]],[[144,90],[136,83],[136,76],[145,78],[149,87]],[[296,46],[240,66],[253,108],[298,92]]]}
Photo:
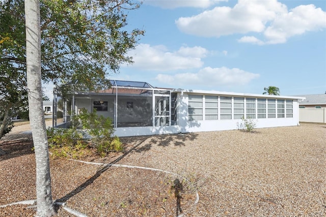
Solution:
{"label": "green and yellowish shrub in front of the screened lanai", "polygon": [[111,151],[123,151],[118,137],[112,137],[114,128],[110,118],[89,113],[83,108],[78,116],[73,116],[69,129],[50,128],[47,130],[50,148],[55,156],[78,158],[86,149],[94,148],[101,156]]}

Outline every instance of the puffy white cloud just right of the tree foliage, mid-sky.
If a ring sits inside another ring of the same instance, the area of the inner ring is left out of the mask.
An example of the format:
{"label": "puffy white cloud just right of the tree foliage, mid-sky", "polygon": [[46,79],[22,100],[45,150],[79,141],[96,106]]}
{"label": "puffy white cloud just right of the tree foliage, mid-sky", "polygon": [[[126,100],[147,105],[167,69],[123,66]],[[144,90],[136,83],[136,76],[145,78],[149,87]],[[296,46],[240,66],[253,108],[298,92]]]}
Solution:
{"label": "puffy white cloud just right of the tree foliage, mid-sky", "polygon": [[203,47],[180,47],[177,51],[169,51],[165,46],[140,44],[131,50],[128,56],[133,57],[130,67],[154,71],[171,71],[178,69],[199,68],[202,58],[208,53]]}

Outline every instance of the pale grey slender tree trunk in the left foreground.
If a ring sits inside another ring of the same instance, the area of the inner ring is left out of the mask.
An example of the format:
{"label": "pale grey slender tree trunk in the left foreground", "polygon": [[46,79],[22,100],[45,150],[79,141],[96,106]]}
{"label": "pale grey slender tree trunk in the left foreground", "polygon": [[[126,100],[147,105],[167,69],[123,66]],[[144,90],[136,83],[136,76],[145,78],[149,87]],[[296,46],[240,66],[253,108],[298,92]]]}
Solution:
{"label": "pale grey slender tree trunk in the left foreground", "polygon": [[42,102],[40,1],[25,0],[26,71],[30,124],[36,158],[36,216],[52,216],[49,152]]}

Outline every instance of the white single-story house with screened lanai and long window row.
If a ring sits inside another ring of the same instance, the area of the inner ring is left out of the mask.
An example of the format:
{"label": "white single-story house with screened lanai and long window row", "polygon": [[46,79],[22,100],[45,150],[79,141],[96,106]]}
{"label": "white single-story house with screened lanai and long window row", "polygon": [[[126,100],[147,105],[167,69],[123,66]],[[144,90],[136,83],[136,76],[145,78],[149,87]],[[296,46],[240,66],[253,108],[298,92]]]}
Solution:
{"label": "white single-story house with screened lanai and long window row", "polygon": [[[298,125],[303,97],[155,88],[146,82],[111,80],[110,89],[85,91],[74,86],[64,97],[53,91],[53,105],[64,100],[64,124],[80,108],[113,120],[118,137],[237,129],[241,118],[258,128]],[[55,109],[56,111],[56,109]],[[72,113],[71,113],[72,111]],[[56,114],[53,113],[53,120]]]}

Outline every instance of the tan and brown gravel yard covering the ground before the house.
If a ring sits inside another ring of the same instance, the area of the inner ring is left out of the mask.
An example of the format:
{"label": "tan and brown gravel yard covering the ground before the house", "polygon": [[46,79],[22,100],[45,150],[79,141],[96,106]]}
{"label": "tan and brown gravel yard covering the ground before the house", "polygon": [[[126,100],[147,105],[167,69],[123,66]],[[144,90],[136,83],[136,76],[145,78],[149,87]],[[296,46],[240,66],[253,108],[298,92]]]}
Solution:
{"label": "tan and brown gravel yard covering the ground before the house", "polygon": [[[326,125],[121,140],[125,153],[80,159],[121,167],[51,159],[53,199],[87,216],[326,215]],[[32,147],[31,135],[0,140],[0,206],[36,198]],[[28,206],[0,216],[33,216]]]}

